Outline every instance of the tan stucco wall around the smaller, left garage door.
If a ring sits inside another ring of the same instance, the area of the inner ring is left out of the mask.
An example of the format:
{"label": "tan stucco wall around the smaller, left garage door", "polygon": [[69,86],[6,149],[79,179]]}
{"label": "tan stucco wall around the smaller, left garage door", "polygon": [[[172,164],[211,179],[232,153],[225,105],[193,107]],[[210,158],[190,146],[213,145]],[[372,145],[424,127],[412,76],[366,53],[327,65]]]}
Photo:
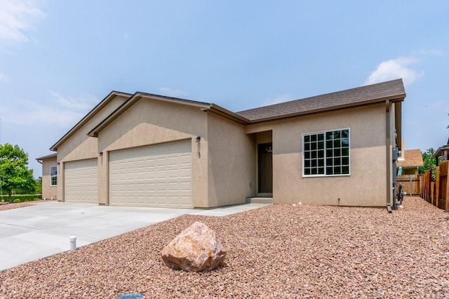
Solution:
{"label": "tan stucco wall around the smaller, left garage door", "polygon": [[87,134],[126,100],[116,96],[103,109],[58,147],[58,201],[64,201],[64,163],[98,157],[98,139]]}

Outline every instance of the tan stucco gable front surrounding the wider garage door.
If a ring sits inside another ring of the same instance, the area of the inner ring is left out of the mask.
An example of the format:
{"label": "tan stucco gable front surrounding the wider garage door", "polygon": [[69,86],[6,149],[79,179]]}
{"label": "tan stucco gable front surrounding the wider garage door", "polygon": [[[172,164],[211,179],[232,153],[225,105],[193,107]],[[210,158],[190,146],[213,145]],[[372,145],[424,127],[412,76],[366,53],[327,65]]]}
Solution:
{"label": "tan stucco gable front surrounding the wider garage door", "polygon": [[[206,113],[198,107],[150,99],[136,102],[98,134],[98,150],[103,152],[98,163],[100,204],[109,204],[110,151],[188,139],[192,142],[192,207],[208,206],[206,125]],[[199,144],[196,136],[201,136]]]}

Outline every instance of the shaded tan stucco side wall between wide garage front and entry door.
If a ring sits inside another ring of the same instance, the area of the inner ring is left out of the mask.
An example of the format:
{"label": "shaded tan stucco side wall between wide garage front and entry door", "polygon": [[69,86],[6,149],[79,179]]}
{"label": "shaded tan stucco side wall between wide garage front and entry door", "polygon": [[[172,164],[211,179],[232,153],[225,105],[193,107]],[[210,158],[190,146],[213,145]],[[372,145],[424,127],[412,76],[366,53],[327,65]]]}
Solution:
{"label": "shaded tan stucco side wall between wide garage front and entry door", "polygon": [[210,206],[243,204],[255,195],[255,136],[232,121],[208,113]]}

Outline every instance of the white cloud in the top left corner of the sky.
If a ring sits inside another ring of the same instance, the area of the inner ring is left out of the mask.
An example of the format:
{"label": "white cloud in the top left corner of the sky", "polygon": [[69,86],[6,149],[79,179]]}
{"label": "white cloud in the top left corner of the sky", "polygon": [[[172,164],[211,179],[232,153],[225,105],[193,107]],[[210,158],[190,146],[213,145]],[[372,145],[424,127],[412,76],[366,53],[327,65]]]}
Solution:
{"label": "white cloud in the top left corner of the sky", "polygon": [[0,40],[29,41],[25,32],[34,29],[34,22],[44,16],[36,1],[0,0]]}

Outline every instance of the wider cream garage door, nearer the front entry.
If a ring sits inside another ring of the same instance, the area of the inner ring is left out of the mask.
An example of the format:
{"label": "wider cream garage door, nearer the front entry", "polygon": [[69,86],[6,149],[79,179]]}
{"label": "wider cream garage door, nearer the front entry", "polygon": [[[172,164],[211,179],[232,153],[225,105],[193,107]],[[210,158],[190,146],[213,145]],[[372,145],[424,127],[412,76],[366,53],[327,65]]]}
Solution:
{"label": "wider cream garage door, nearer the front entry", "polygon": [[109,154],[112,206],[192,206],[190,140]]}

